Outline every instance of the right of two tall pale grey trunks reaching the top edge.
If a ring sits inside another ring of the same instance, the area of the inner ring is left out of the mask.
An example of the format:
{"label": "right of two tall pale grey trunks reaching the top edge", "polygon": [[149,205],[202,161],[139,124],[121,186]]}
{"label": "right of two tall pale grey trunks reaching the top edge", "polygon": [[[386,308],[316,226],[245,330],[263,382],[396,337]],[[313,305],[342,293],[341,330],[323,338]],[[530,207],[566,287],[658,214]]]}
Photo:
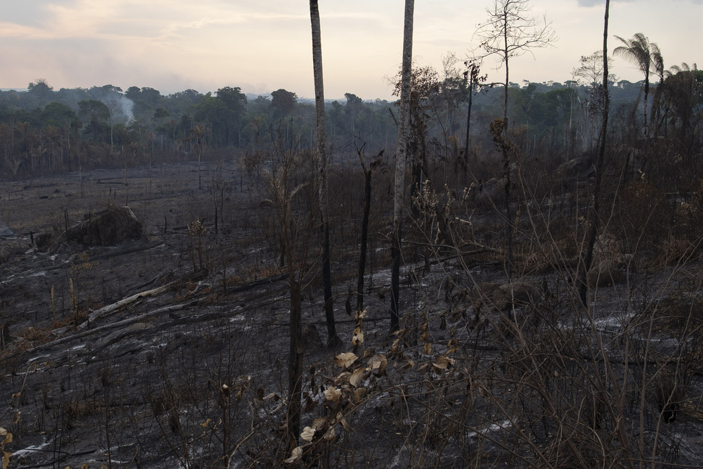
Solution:
{"label": "right of two tall pale grey trunks reaching the top edge", "polygon": [[413,11],[415,0],[405,0],[405,27],[403,32],[403,70],[396,145],[396,175],[393,205],[393,247],[391,271],[391,333],[399,328],[399,293],[401,239],[403,233],[403,194],[405,193],[406,149],[408,146],[408,117],[410,110],[410,79],[413,65]]}

